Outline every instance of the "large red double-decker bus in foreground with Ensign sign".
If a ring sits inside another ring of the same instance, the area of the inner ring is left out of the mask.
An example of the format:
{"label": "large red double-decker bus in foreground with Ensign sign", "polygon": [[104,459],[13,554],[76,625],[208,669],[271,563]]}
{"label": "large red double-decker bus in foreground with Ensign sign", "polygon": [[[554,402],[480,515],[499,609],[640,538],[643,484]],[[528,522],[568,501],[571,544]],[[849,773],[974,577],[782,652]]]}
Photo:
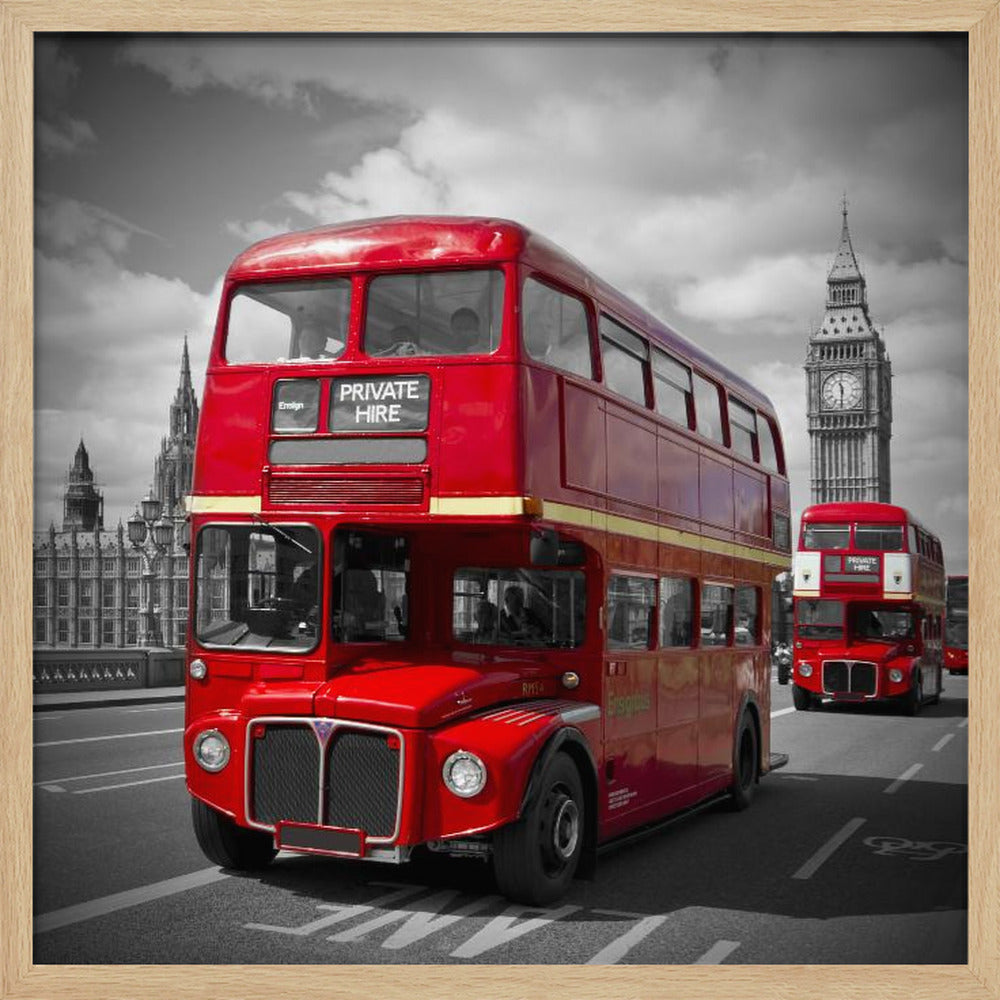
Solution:
{"label": "large red double-decker bus in foreground with Ensign sign", "polygon": [[185,762],[221,865],[426,849],[541,903],[783,762],[774,411],[520,225],[239,256],[189,510]]}

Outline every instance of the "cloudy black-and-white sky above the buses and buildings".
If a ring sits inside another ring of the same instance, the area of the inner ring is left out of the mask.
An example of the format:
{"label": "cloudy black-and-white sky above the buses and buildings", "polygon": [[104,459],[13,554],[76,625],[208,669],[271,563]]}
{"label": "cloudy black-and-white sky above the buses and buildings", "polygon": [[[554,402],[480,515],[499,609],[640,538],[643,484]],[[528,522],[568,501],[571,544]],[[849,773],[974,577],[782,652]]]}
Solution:
{"label": "cloudy black-and-white sky above the buses and buildings", "polygon": [[36,38],[37,527],[81,435],[131,514],[241,249],[426,212],[527,224],[758,385],[801,510],[846,191],[893,499],[966,571],[964,35]]}

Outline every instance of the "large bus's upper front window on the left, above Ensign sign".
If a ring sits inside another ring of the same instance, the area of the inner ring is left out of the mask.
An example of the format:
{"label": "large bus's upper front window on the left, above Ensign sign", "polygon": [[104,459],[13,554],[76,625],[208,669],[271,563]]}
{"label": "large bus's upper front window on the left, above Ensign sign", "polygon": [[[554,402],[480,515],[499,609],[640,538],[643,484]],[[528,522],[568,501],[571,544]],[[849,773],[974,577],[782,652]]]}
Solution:
{"label": "large bus's upper front window on the left, above Ensign sign", "polygon": [[350,307],[348,278],[243,285],[229,306],[226,360],[255,364],[339,357]]}

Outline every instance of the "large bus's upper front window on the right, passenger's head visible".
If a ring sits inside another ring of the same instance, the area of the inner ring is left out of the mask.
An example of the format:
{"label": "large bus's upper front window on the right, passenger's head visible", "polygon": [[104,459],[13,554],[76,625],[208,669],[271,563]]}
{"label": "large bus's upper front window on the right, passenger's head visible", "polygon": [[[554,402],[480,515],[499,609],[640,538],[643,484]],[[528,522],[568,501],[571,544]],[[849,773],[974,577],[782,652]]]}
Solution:
{"label": "large bus's upper front window on the right, passenger's head visible", "polygon": [[500,346],[503,275],[496,270],[385,274],[368,286],[366,354],[492,354]]}

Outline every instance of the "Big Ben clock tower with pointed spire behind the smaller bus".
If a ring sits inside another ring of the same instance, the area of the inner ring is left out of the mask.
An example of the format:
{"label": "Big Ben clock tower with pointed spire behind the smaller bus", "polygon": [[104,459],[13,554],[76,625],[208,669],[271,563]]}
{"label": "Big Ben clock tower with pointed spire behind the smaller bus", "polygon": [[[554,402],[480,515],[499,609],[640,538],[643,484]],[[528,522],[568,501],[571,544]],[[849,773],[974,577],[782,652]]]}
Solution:
{"label": "Big Ben clock tower with pointed spire behind the smaller bus", "polygon": [[826,313],[809,338],[806,380],[813,503],[888,503],[892,366],[868,313],[868,292],[847,229],[826,279]]}

